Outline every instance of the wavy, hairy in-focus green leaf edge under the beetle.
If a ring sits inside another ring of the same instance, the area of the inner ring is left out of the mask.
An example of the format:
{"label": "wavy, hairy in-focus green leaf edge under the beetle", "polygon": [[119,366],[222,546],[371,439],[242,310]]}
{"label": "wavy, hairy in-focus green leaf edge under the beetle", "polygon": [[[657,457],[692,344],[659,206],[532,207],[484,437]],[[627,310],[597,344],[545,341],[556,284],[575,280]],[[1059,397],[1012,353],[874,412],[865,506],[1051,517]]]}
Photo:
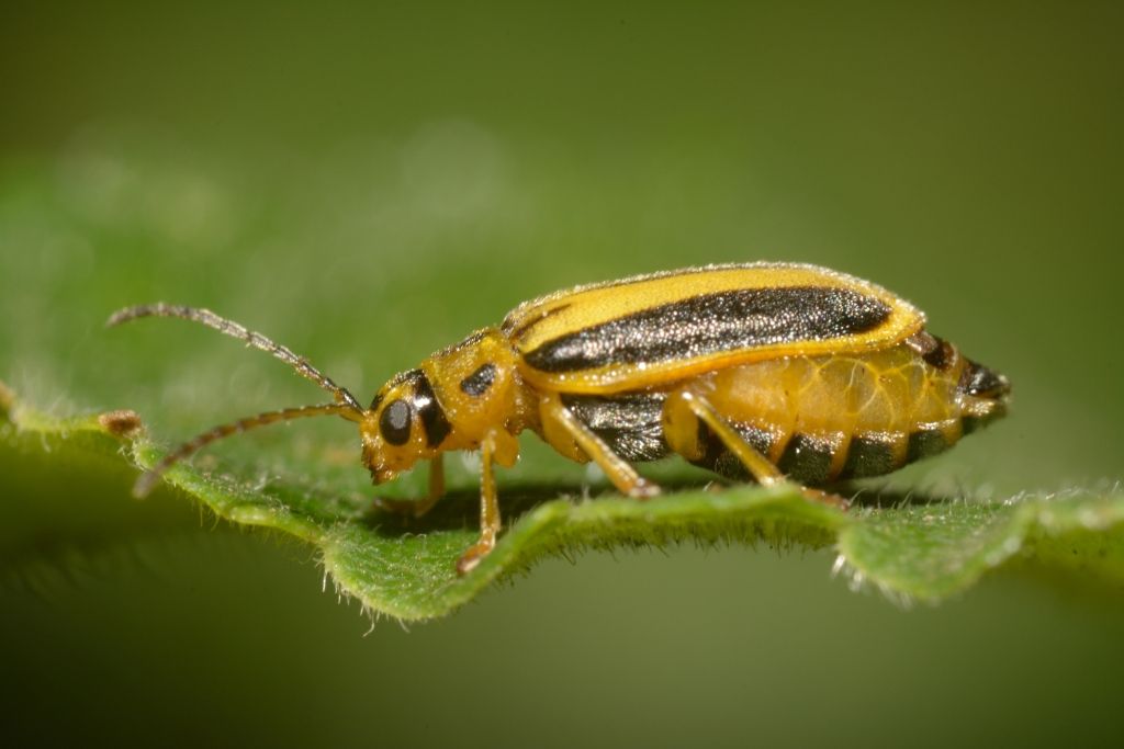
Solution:
{"label": "wavy, hairy in-focus green leaf edge under the beetle", "polygon": [[[8,410],[9,449],[38,439],[119,454],[142,468],[164,454],[128,412],[56,420]],[[943,599],[1013,560],[1124,582],[1124,495],[1117,490],[1006,502],[915,500],[843,512],[805,500],[796,487],[685,490],[636,502],[574,501],[560,497],[556,485],[505,484],[506,532],[479,567],[457,576],[455,561],[477,536],[471,486],[452,491],[425,519],[407,521],[355,499],[346,484],[282,478],[247,486],[191,465],[176,466],[166,479],[220,518],[311,544],[342,593],[375,615],[407,621],[445,615],[544,556],[676,542],[834,545],[836,568],[854,585],[901,601]]]}

